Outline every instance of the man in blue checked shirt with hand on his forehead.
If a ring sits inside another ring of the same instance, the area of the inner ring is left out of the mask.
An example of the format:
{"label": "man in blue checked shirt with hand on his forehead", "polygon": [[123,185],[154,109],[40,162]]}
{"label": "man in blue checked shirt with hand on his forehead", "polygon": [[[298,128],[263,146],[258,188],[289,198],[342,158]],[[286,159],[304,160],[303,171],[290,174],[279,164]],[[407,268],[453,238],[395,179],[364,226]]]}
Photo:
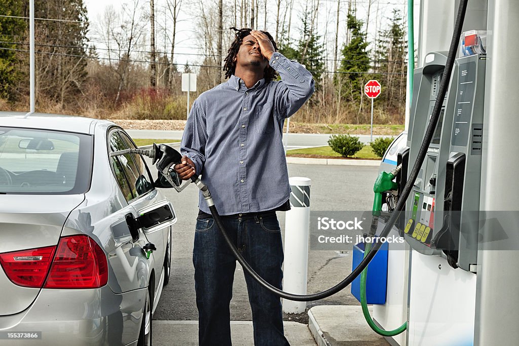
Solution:
{"label": "man in blue checked shirt with hand on his forehead", "polygon": [[[283,248],[276,211],[290,209],[283,122],[314,90],[310,72],[276,52],[267,32],[231,28],[225,77],[194,102],[184,130],[182,179],[201,174],[231,239],[252,268],[281,288]],[[276,72],[281,81],[275,81]],[[231,344],[229,302],[236,260],[200,195],[193,264],[200,345]],[[279,297],[245,274],[254,344],[288,345]]]}

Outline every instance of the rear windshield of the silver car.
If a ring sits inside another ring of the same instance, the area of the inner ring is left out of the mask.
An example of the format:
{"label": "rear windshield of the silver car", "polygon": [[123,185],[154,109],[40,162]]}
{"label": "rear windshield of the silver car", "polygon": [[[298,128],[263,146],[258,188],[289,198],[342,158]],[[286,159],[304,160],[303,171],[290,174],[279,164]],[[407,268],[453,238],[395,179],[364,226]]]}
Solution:
{"label": "rear windshield of the silver car", "polygon": [[0,127],[0,193],[73,195],[90,187],[90,135]]}

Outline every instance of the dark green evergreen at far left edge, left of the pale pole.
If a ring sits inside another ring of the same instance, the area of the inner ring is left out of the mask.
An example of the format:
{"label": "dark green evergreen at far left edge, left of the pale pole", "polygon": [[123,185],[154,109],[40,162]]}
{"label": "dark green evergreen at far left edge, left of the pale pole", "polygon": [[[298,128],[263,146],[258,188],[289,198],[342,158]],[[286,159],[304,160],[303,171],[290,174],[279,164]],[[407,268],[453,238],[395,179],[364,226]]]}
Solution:
{"label": "dark green evergreen at far left edge, left of the pale pole", "polygon": [[22,41],[25,33],[25,23],[20,18],[23,16],[22,0],[0,0],[2,15],[0,17],[0,98],[9,101],[15,100],[13,92],[16,82],[23,77],[19,67],[17,51],[12,49],[25,49],[25,46],[17,46],[15,43]]}

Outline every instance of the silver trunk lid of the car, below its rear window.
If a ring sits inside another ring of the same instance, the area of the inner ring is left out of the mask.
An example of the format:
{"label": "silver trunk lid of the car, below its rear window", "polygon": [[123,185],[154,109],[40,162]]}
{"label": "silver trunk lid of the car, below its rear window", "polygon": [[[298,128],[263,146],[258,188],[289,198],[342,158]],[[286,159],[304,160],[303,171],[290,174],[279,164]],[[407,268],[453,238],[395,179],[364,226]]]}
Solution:
{"label": "silver trunk lid of the car, below its rear window", "polygon": [[[0,255],[55,247],[67,216],[84,199],[84,195],[0,195]],[[22,257],[16,260],[27,260]],[[2,269],[0,292],[8,299],[3,299],[0,315],[19,313],[31,305],[41,288],[15,284],[8,270]]]}

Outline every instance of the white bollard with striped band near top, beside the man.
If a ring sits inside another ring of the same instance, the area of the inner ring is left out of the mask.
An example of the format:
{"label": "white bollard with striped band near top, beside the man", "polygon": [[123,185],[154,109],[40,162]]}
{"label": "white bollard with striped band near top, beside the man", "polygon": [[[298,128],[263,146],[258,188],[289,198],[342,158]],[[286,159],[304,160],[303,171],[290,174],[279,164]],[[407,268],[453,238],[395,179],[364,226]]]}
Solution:
{"label": "white bollard with striped band near top, beside the man", "polygon": [[[285,241],[283,290],[293,294],[306,294],[308,279],[308,229],[310,226],[309,178],[291,177],[290,206],[285,213]],[[283,299],[283,312],[305,312],[306,301]]]}

